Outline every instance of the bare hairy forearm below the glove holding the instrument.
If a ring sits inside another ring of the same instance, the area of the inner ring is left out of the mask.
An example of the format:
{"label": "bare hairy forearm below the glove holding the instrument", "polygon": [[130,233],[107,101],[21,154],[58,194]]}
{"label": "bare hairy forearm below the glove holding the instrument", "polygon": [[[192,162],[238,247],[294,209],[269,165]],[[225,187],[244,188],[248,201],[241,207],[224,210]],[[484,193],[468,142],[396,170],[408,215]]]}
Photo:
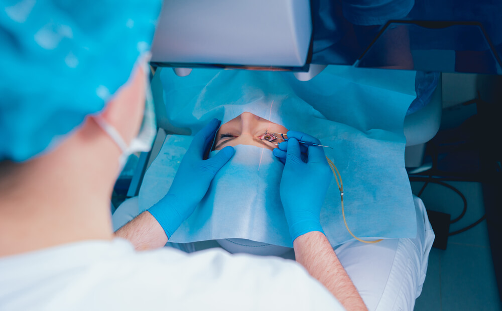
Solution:
{"label": "bare hairy forearm below the glove holding the instrument", "polygon": [[347,310],[367,310],[326,236],[319,231],[300,235],[293,242],[296,261],[318,279]]}

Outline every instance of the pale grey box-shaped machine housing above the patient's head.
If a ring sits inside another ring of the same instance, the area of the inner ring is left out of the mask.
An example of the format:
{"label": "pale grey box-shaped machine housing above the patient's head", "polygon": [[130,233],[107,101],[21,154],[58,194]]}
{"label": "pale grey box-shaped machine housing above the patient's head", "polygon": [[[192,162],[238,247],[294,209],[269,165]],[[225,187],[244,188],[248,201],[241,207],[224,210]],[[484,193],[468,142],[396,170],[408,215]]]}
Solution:
{"label": "pale grey box-shaped machine housing above the patient's head", "polygon": [[311,33],[309,0],[168,0],[152,44],[152,62],[177,69],[301,68]]}

